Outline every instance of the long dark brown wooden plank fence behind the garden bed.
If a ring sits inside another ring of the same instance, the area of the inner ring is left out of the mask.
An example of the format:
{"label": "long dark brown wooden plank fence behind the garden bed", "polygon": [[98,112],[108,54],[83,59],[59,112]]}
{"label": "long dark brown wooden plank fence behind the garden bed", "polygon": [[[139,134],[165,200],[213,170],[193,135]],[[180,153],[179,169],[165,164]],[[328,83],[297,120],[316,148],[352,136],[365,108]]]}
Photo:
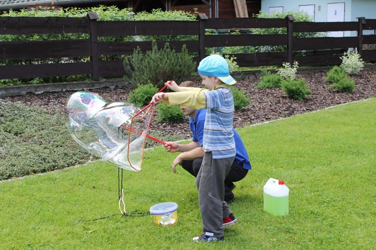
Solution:
{"label": "long dark brown wooden plank fence behind the garden bed", "polygon": [[[286,28],[285,35],[255,35],[241,32],[239,35],[206,34],[208,30],[249,31],[254,28]],[[363,31],[372,35],[363,35]],[[287,46],[285,52],[234,54],[241,67],[282,65],[298,61],[299,66],[339,65],[339,52],[356,48],[366,62],[376,61],[376,20],[358,18],[358,22],[310,23],[294,22],[292,16],[285,19],[208,19],[199,14],[197,21],[100,21],[96,13],[84,18],[60,17],[0,17],[0,36],[32,34],[89,34],[88,39],[12,41],[0,42],[0,79],[91,75],[94,81],[100,77],[123,76],[122,60],[100,60],[106,55],[130,55],[139,47],[151,50],[149,41],[100,42],[99,37],[117,36],[187,36],[187,41],[159,41],[158,48],[168,42],[171,49],[181,51],[183,45],[189,52],[197,53],[195,60],[205,58],[206,48],[234,46]],[[296,38],[294,33],[307,32],[356,32],[353,37]],[[3,41],[3,40],[1,40]],[[310,51],[307,56],[295,56],[296,51]],[[324,53],[323,53],[324,52]],[[90,58],[82,62],[67,62],[65,58]],[[29,59],[62,59],[55,63],[2,64],[2,61]]]}

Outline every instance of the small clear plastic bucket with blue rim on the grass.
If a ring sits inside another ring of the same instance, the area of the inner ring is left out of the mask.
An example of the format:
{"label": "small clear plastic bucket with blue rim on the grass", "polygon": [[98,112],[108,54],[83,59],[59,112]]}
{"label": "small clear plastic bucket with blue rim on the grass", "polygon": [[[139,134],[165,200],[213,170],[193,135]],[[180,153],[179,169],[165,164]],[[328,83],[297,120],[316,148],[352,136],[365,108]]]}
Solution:
{"label": "small clear plastic bucket with blue rim on the grass", "polygon": [[162,202],[150,207],[154,223],[157,225],[174,225],[177,222],[177,204],[175,202]]}

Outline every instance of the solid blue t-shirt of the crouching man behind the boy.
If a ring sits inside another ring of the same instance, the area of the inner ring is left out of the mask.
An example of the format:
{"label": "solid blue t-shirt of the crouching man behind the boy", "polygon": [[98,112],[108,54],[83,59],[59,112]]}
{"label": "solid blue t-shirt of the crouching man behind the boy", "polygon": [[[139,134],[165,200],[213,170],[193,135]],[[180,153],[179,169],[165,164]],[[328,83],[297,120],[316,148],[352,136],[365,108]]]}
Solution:
{"label": "solid blue t-shirt of the crouching man behind the boy", "polygon": [[[195,119],[190,117],[190,128],[192,131],[192,140],[195,142],[198,142],[200,147],[203,146],[205,117],[206,117],[206,109],[198,109],[196,112]],[[234,133],[234,140],[235,140],[235,145],[236,145],[235,160],[237,163],[243,162],[243,168],[250,170],[252,166],[251,166],[251,163],[249,162],[248,153],[243,144],[243,141],[234,128],[233,128],[233,133]]]}

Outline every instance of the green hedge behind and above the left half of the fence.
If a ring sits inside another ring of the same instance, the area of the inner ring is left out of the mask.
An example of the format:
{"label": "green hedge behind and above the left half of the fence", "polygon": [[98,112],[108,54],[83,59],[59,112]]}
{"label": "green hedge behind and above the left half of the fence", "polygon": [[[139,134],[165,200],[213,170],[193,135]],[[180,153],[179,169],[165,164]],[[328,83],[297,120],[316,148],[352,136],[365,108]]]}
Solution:
{"label": "green hedge behind and above the left half of the fence", "polygon": [[[38,12],[28,11],[26,9],[20,11],[10,10],[4,12],[3,17],[86,17],[88,12],[95,12],[98,14],[100,21],[162,21],[162,20],[177,20],[177,21],[195,21],[196,15],[186,13],[183,11],[164,12],[161,10],[153,10],[152,13],[140,12],[133,13],[131,8],[119,9],[115,6],[99,6],[92,8],[61,8],[59,12],[50,9],[39,9]],[[31,35],[0,35],[0,42],[8,41],[46,41],[46,40],[74,40],[74,39],[89,39],[89,34],[31,34]],[[99,42],[129,42],[129,41],[172,41],[172,40],[198,40],[198,36],[118,36],[118,37],[98,37]],[[191,55],[192,57],[195,55]],[[100,61],[105,60],[128,60],[125,55],[101,55]],[[5,65],[15,64],[42,64],[42,63],[60,63],[60,62],[86,62],[90,60],[88,57],[75,58],[55,58],[55,59],[26,59],[26,60],[8,60],[3,61]],[[85,78],[85,79],[83,79]],[[108,79],[108,78],[106,78]],[[12,85],[28,85],[37,83],[56,83],[56,82],[75,82],[91,80],[87,76],[70,76],[70,77],[54,77],[42,78],[34,81],[33,79],[12,79],[2,80],[2,86]]]}

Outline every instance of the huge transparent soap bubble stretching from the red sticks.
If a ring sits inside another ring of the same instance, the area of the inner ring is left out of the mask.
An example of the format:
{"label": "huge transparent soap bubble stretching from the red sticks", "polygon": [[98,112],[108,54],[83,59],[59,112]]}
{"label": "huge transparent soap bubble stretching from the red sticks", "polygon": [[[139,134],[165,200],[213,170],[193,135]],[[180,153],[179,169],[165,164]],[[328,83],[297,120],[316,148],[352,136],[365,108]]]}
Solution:
{"label": "huge transparent soap bubble stretching from the red sticks", "polygon": [[91,92],[72,94],[66,105],[73,139],[95,156],[127,170],[141,169],[150,116],[127,102],[107,102]]}

